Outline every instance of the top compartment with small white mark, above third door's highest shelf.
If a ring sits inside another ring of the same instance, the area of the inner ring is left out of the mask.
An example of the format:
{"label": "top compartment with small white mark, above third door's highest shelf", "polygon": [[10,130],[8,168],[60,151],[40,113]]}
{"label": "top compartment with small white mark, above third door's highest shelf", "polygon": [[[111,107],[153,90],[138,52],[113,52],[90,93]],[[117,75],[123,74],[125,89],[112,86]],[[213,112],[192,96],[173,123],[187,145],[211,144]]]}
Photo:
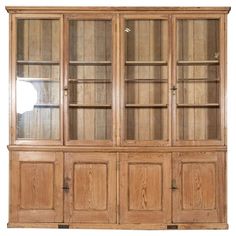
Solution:
{"label": "top compartment with small white mark, above third door's highest shelf", "polygon": [[127,61],[167,60],[167,20],[127,20],[124,30]]}

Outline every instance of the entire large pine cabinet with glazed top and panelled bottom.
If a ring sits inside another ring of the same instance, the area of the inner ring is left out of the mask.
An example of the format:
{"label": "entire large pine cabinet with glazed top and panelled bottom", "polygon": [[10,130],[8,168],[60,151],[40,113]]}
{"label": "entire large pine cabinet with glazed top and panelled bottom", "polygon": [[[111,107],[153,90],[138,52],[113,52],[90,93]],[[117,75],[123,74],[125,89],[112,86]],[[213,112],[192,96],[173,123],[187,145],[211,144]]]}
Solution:
{"label": "entire large pine cabinet with glazed top and panelled bottom", "polygon": [[230,8],[7,10],[9,227],[228,227]]}

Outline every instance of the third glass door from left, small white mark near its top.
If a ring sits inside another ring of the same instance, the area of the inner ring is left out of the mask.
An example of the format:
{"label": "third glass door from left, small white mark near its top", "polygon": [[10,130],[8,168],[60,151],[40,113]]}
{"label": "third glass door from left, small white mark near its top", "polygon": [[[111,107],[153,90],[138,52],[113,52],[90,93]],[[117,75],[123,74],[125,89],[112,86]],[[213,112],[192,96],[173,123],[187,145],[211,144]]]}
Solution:
{"label": "third glass door from left, small white mark near its top", "polygon": [[123,144],[168,145],[168,17],[124,16],[121,34]]}

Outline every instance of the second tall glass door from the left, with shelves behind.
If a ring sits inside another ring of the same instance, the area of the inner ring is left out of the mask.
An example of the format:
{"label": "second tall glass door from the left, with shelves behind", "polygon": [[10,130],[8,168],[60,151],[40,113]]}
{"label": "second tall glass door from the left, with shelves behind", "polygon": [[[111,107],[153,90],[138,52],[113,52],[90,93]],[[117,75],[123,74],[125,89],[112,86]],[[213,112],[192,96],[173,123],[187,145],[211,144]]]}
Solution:
{"label": "second tall glass door from the left, with shelves behind", "polygon": [[67,143],[112,144],[113,22],[111,16],[69,18]]}

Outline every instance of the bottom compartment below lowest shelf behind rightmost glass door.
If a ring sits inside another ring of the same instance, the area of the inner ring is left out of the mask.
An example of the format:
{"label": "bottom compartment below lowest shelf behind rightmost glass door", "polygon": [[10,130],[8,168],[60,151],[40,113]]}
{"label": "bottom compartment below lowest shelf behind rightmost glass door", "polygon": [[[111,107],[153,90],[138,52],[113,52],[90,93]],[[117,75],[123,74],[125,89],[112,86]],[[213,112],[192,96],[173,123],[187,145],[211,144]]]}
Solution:
{"label": "bottom compartment below lowest shelf behind rightmost glass door", "polygon": [[220,109],[179,108],[177,139],[192,141],[220,139]]}

